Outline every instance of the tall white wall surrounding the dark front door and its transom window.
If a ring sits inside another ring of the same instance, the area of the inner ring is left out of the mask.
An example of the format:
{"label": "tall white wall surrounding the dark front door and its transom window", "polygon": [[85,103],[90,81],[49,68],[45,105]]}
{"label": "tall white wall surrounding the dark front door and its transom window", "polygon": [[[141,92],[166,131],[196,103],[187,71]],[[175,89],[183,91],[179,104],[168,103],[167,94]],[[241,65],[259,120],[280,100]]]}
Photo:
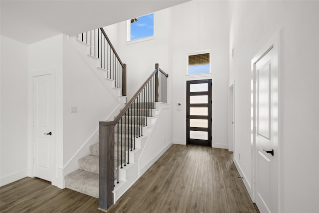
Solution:
{"label": "tall white wall surrounding the dark front door and its transom window", "polygon": [[209,49],[211,74],[201,78],[213,79],[212,146],[228,148],[228,2],[189,1],[172,9],[174,143],[186,144],[186,80],[200,79],[186,76],[187,54]]}

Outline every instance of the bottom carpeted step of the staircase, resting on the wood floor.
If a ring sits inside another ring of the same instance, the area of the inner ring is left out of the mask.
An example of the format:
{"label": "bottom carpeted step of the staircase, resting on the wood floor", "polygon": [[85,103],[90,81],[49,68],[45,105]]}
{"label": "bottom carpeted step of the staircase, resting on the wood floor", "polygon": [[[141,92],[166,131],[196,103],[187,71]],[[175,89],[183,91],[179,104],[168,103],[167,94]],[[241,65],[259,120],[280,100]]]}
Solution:
{"label": "bottom carpeted step of the staircase, resting on the wood floor", "polygon": [[65,176],[65,188],[99,198],[99,175],[76,170]]}

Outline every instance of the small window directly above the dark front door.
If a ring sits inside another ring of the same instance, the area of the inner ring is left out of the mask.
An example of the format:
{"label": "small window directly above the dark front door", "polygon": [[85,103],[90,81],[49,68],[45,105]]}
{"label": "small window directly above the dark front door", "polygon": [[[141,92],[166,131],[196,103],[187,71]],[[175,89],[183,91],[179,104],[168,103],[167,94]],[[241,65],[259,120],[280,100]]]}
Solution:
{"label": "small window directly above the dark front door", "polygon": [[209,53],[188,55],[188,75],[210,72]]}

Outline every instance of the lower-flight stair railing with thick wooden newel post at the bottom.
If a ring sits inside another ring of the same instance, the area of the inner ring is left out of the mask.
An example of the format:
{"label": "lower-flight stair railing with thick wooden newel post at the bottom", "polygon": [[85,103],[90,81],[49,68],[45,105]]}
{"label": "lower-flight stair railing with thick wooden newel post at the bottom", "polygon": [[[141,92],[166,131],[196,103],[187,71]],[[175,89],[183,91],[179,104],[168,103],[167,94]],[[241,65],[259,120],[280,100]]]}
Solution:
{"label": "lower-flight stair railing with thick wooden newel post at the bottom", "polygon": [[[155,70],[113,121],[100,121],[99,209],[114,204],[113,190],[119,184],[119,168],[130,164],[129,152],[136,149],[136,139],[143,137],[148,117],[153,117],[156,102],[167,103],[167,77]],[[118,169],[116,169],[118,168]]]}

